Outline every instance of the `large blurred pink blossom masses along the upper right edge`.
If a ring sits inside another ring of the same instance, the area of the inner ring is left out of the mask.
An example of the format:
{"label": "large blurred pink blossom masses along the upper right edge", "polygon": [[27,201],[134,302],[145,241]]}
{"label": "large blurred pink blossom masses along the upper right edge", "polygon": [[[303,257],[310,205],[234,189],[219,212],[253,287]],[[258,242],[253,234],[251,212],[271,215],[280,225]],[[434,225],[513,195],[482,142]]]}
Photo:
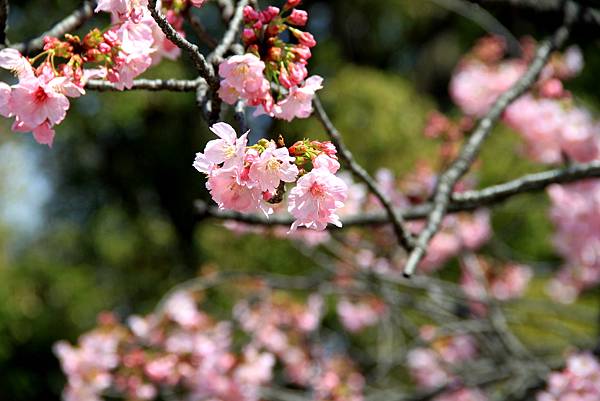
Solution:
{"label": "large blurred pink blossom masses along the upper right edge", "polygon": [[[469,115],[483,115],[524,73],[532,47],[526,41],[523,57],[502,59],[500,39],[482,40],[452,78],[450,93],[456,104]],[[504,122],[521,134],[525,154],[532,160],[553,164],[600,158],[600,122],[563,86],[582,65],[577,48],[553,55],[533,89],[506,109]],[[549,291],[554,298],[570,302],[582,290],[600,283],[600,180],[553,185],[548,194],[557,229],[554,243],[566,262]]]}

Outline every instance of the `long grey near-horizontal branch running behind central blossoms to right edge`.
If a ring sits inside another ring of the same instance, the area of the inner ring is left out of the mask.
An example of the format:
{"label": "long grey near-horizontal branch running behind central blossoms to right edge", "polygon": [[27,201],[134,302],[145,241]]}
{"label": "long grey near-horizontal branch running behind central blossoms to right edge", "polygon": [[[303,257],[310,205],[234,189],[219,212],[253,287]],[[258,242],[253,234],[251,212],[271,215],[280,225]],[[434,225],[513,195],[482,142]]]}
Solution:
{"label": "long grey near-horizontal branch running behind central blossoms to right edge", "polygon": [[[454,193],[448,204],[447,213],[457,213],[475,210],[484,206],[497,204],[512,198],[515,195],[541,191],[552,184],[568,184],[583,179],[600,178],[600,161],[574,164],[568,167],[557,168],[541,173],[528,174],[512,181],[493,185],[481,190]],[[198,205],[201,214],[222,220],[235,220],[254,225],[289,226],[293,219],[288,216],[271,216],[267,220],[259,215],[241,214],[222,211],[216,207]],[[397,210],[404,220],[419,220],[427,217],[433,210],[432,203]],[[343,218],[344,227],[373,226],[389,224],[389,217],[383,212],[361,213]]]}

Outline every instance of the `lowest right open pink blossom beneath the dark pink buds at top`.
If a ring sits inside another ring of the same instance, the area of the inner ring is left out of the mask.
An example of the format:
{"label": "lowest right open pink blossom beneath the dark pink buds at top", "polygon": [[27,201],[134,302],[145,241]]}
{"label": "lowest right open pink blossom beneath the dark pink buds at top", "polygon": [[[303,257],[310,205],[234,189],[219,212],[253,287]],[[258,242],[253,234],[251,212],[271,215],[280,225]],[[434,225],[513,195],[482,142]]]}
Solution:
{"label": "lowest right open pink blossom beneath the dark pink buds at top", "polygon": [[312,114],[312,100],[316,91],[323,88],[323,78],[318,75],[309,77],[302,87],[290,88],[288,96],[279,101],[274,109],[274,115],[287,121],[294,118],[307,118]]}

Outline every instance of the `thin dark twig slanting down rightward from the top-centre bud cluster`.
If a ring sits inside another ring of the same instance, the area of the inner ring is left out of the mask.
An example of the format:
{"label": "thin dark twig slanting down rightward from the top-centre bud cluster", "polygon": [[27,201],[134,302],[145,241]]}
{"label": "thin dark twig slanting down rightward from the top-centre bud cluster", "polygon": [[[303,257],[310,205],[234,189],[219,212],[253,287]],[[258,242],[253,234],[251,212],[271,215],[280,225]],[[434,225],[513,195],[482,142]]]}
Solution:
{"label": "thin dark twig slanting down rightward from the top-centre bud cluster", "polygon": [[379,199],[383,208],[388,214],[392,226],[394,227],[394,232],[398,237],[398,242],[404,249],[411,250],[414,246],[414,240],[412,234],[405,226],[402,215],[394,209],[391,200],[381,191],[379,186],[375,183],[373,177],[371,177],[369,173],[367,173],[367,171],[354,159],[352,152],[350,152],[350,150],[344,144],[342,134],[333,125],[329,119],[329,116],[327,116],[327,113],[325,112],[325,109],[323,108],[323,105],[317,96],[315,96],[313,103],[317,111],[317,117],[327,131],[331,141],[338,149],[340,158],[347,164],[350,171],[352,171],[352,173],[358,179],[367,185],[369,191],[371,191],[377,197],[377,199]]}

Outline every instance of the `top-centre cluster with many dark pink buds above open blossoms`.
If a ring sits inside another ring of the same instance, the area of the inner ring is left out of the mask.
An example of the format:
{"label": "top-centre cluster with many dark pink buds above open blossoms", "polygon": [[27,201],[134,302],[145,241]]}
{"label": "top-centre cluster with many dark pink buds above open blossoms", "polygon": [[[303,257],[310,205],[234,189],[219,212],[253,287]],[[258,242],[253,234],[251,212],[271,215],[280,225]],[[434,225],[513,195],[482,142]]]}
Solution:
{"label": "top-centre cluster with many dark pink buds above open blossoms", "polygon": [[[314,37],[299,28],[308,21],[301,3],[288,0],[282,9],[269,6],[259,11],[244,8],[243,55],[231,56],[219,65],[222,78],[219,96],[234,104],[243,99],[257,106],[258,114],[291,121],[312,113],[312,99],[322,88],[320,76],[308,76],[308,59],[316,45]],[[288,43],[283,38],[287,33]]]}

